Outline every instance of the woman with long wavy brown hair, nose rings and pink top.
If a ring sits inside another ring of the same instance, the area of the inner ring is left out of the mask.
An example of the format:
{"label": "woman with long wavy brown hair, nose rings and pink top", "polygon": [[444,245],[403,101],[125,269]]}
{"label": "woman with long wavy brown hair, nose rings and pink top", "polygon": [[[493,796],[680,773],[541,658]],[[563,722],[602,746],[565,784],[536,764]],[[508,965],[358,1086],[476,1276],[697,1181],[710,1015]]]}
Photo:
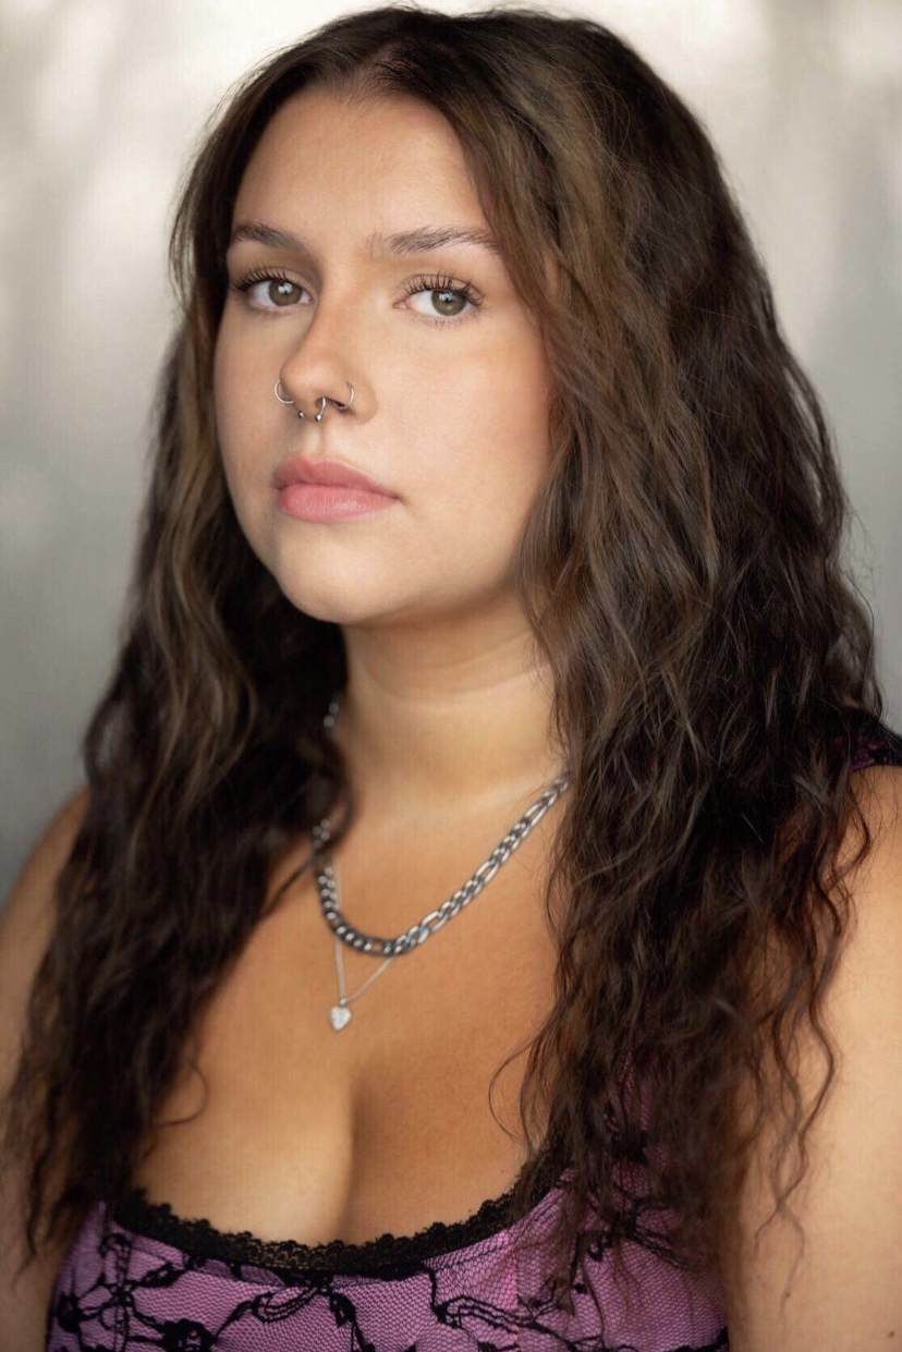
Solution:
{"label": "woman with long wavy brown hair, nose rings and pink top", "polygon": [[883,1345],[902,745],[698,123],[587,19],[372,9],[173,258],[4,922],[4,1347]]}

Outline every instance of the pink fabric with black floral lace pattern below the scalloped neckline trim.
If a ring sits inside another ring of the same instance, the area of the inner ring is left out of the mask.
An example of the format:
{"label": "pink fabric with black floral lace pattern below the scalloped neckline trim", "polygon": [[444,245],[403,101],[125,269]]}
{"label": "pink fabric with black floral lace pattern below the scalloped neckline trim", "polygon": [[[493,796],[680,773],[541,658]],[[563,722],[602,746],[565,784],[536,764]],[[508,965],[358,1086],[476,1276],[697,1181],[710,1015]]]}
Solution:
{"label": "pink fabric with black floral lace pattern below the scalloped neckline trim", "polygon": [[[542,1228],[557,1190],[530,1213]],[[214,1232],[215,1233],[215,1232]],[[237,1237],[235,1237],[237,1238]],[[277,1274],[137,1234],[103,1205],[57,1276],[49,1352],[715,1352],[728,1348],[719,1293],[637,1245],[641,1299],[627,1310],[603,1251],[588,1255],[604,1328],[575,1280],[572,1311],[514,1251],[514,1228],[379,1276]]]}

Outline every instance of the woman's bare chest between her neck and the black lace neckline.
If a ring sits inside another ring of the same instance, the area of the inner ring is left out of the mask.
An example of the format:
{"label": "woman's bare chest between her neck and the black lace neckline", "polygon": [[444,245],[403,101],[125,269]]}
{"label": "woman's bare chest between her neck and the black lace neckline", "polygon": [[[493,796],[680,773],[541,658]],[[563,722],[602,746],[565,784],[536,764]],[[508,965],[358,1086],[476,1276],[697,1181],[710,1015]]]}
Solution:
{"label": "woman's bare chest between her neck and the black lace neckline", "polygon": [[[366,933],[398,934],[461,886],[473,849],[349,840],[334,860],[342,910]],[[281,863],[270,891],[307,853]],[[334,940],[306,871],[203,1011],[195,1068],[185,1061],[161,1105],[166,1125],[135,1184],[181,1217],[306,1244],[415,1233],[504,1192],[525,1157],[526,1052],[553,1002],[544,877],[530,837],[379,976],[381,959],[342,945],[345,991],[360,994],[335,1032]]]}

